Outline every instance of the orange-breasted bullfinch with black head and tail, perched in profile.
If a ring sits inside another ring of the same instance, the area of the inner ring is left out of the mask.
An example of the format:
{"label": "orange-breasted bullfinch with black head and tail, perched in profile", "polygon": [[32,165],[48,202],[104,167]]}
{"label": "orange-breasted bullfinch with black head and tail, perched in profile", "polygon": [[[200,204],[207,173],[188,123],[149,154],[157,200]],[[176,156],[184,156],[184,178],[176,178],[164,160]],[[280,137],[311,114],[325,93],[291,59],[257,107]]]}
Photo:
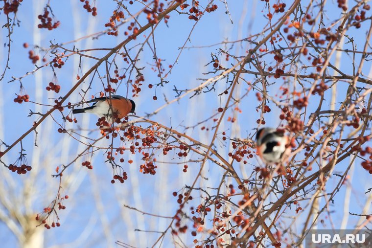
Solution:
{"label": "orange-breasted bullfinch with black head and tail, perched in profile", "polygon": [[135,113],[136,109],[136,104],[133,100],[125,98],[121,95],[111,95],[111,99],[110,97],[97,97],[93,100],[87,101],[87,103],[91,102],[93,102],[91,107],[74,109],[72,110],[72,113],[94,113],[99,117],[110,117],[113,111],[114,114],[117,114],[117,118],[121,119],[124,118],[128,113]]}

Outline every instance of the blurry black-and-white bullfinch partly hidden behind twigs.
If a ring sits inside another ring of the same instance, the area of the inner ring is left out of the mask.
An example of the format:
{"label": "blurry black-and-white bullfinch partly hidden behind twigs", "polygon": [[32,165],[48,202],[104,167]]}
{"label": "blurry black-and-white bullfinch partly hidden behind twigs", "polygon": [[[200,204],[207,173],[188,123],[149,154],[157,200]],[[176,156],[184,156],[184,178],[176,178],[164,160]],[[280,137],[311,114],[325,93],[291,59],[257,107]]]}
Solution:
{"label": "blurry black-and-white bullfinch partly hidden behind twigs", "polygon": [[266,163],[279,163],[286,152],[288,137],[274,128],[261,128],[256,135],[258,156]]}

